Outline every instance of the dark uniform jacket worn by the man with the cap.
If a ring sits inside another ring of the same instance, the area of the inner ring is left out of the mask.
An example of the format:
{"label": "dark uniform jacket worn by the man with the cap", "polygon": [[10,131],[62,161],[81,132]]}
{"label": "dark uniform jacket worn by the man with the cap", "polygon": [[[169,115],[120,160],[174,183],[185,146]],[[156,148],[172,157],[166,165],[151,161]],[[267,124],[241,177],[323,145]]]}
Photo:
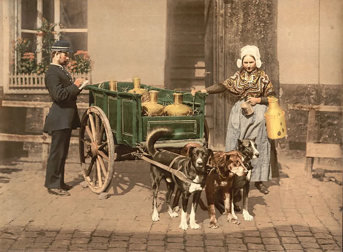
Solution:
{"label": "dark uniform jacket worn by the man with the cap", "polygon": [[43,132],[80,127],[76,98],[81,90],[74,85],[68,71],[62,66],[50,65],[44,81],[53,103],[45,119]]}

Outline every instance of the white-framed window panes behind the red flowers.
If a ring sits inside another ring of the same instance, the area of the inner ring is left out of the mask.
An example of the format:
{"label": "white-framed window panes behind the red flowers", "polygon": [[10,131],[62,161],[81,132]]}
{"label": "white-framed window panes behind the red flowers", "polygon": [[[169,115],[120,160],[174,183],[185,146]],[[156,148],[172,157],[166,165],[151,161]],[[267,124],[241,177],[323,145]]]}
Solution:
{"label": "white-framed window panes behind the red flowers", "polygon": [[36,29],[42,26],[42,18],[57,24],[56,40],[70,41],[74,53],[87,51],[87,0],[15,0],[14,8],[15,37],[32,42],[27,51],[36,53],[37,64],[50,57],[42,51],[42,36],[37,36]]}

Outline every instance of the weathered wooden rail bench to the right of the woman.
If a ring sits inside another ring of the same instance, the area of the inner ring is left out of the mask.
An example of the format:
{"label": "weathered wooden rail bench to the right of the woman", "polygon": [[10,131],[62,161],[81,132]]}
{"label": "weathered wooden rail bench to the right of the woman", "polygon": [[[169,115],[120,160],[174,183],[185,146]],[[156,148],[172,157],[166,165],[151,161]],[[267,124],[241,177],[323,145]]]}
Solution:
{"label": "weathered wooden rail bench to the right of the woman", "polygon": [[342,145],[316,143],[314,139],[316,128],[316,111],[322,112],[342,112],[340,106],[325,106],[325,105],[288,105],[288,109],[305,110],[308,112],[307,136],[306,136],[306,165],[304,175],[310,176],[315,157],[342,158]]}

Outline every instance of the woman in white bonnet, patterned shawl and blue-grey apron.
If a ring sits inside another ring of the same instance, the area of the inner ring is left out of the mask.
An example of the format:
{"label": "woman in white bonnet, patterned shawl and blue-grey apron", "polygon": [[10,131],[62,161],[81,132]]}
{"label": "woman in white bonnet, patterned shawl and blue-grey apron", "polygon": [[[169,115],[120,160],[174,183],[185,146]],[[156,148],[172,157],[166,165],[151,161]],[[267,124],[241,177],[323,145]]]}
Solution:
{"label": "woman in white bonnet, patterned shawl and blue-grey apron", "polygon": [[[275,90],[267,74],[260,69],[261,59],[257,46],[244,46],[240,52],[240,59],[237,66],[241,68],[233,76],[224,80],[220,84],[215,84],[200,92],[218,94],[228,90],[240,99],[231,109],[226,132],[225,151],[236,150],[237,140],[256,137],[259,158],[251,160],[253,169],[250,181],[255,182],[255,186],[261,193],[268,194],[268,188],[263,184],[271,179],[272,171],[277,171],[277,160],[274,140],[268,139],[265,125],[264,113],[267,111],[268,96],[275,96]],[[194,95],[199,90],[192,90]],[[253,106],[253,113],[246,116],[241,109],[241,104],[249,101]],[[271,167],[271,155],[272,166]],[[276,166],[276,167],[275,167]],[[273,174],[274,177],[274,174]]]}

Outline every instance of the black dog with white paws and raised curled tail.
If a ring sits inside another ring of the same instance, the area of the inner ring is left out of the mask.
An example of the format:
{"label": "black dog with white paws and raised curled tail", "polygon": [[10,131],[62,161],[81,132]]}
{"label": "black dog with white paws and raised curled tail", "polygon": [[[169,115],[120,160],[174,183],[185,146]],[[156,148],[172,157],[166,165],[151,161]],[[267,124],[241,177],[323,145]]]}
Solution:
{"label": "black dog with white paws and raised curled tail", "polygon": [[[152,159],[156,162],[169,166],[173,160],[179,155],[169,152],[169,151],[157,151],[155,149],[156,141],[162,136],[170,133],[169,129],[156,129],[153,130],[146,138],[147,149]],[[211,149],[206,149],[205,147],[192,147],[190,150],[189,157],[179,156],[173,163],[171,168],[180,169],[182,173],[186,175],[194,183],[188,183],[180,180],[175,176],[178,188],[182,191],[182,213],[181,213],[181,223],[179,228],[187,230],[187,204],[191,193],[193,195],[192,209],[190,214],[189,224],[192,229],[199,229],[200,226],[195,222],[195,212],[197,210],[198,201],[200,199],[201,191],[205,186],[205,180],[207,177],[207,167],[209,157],[213,155]],[[161,179],[165,179],[167,183],[167,193],[166,193],[166,204],[170,217],[178,217],[178,214],[173,211],[170,207],[171,195],[174,192],[175,182],[170,172],[151,164],[150,166],[150,181],[153,192],[153,215],[152,220],[158,221],[158,211],[157,211],[157,192],[159,183]]]}

